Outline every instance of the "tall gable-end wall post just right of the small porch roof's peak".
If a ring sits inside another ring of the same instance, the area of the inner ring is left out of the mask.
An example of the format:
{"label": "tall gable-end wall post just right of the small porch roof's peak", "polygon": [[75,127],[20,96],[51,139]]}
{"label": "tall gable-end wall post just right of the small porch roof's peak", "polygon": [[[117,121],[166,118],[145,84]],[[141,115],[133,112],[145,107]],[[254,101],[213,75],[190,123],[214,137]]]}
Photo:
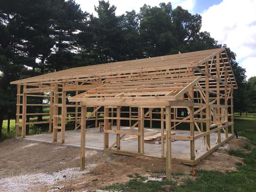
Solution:
{"label": "tall gable-end wall post just right of the small porch roof's peak", "polygon": [[[209,74],[209,65],[208,65],[208,61],[205,63],[205,72],[206,73],[208,73]],[[205,88],[207,89],[207,90],[209,90],[209,76],[205,76]],[[209,104],[209,92],[208,91],[206,91],[205,92],[205,95],[206,95],[206,97],[205,97],[205,100],[206,100],[206,104]],[[210,111],[210,106],[209,105],[207,105],[206,106],[206,118],[208,118],[207,120],[206,120],[206,131],[210,131],[210,122],[211,122],[211,111]],[[206,142],[207,142],[207,145],[209,146],[209,148],[210,148],[210,134],[207,134],[207,136],[206,136]],[[209,150],[208,148],[207,148],[207,150]]]}

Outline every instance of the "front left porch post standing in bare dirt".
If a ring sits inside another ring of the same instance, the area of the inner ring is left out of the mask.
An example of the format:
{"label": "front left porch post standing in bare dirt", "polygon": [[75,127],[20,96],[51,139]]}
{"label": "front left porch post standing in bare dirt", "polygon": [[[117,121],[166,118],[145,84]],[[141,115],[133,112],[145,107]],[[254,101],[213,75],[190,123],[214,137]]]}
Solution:
{"label": "front left porch post standing in bare dirt", "polygon": [[86,113],[87,107],[81,107],[81,146],[80,146],[80,170],[85,169],[85,131],[86,131]]}

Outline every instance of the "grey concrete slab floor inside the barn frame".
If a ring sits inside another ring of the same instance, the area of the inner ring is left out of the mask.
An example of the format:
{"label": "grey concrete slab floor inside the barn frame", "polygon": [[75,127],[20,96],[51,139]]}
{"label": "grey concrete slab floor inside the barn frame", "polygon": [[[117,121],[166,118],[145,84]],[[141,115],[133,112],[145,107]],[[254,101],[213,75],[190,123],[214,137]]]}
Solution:
{"label": "grey concrete slab floor inside the barn frame", "polygon": [[[122,131],[127,131],[129,127],[121,127]],[[112,126],[112,130],[116,130],[116,126]],[[137,131],[137,128],[134,128],[133,131]],[[145,133],[149,131],[159,131],[159,128],[145,128]],[[189,136],[189,131],[183,130],[172,130],[175,132],[176,135],[182,136]],[[199,134],[198,131],[195,131],[195,135]],[[104,143],[104,134],[98,133],[98,128],[88,128],[86,131],[86,148],[96,149],[96,150],[103,150],[103,143]],[[152,134],[154,135],[154,134]],[[212,133],[210,137],[210,145],[213,148],[217,139],[217,133]],[[130,137],[131,135],[126,135],[126,137]],[[231,136],[231,134],[229,134]],[[58,132],[58,140],[61,137],[61,133]],[[80,130],[76,131],[66,131],[65,133],[65,143],[62,144],[64,146],[70,147],[79,147],[80,148]],[[147,136],[146,136],[147,137]],[[123,139],[124,139],[123,138]],[[221,141],[225,139],[225,134],[221,134]],[[31,135],[26,136],[24,140],[27,141],[34,141],[34,142],[43,142],[43,143],[52,143],[52,134],[40,134],[40,135]],[[116,134],[109,134],[109,145],[112,145],[116,141]],[[121,140],[121,150],[122,151],[129,151],[129,152],[137,152],[138,139],[132,139],[123,141]],[[144,143],[145,145],[145,155],[152,156],[152,157],[161,157],[161,145],[158,144],[149,144]],[[166,143],[165,143],[166,147]],[[115,149],[115,148],[113,148]],[[195,153],[196,159],[201,155],[207,152],[206,145],[204,145],[203,139],[195,140]],[[172,158],[180,158],[180,159],[190,159],[190,141],[187,140],[177,140],[172,142]]]}

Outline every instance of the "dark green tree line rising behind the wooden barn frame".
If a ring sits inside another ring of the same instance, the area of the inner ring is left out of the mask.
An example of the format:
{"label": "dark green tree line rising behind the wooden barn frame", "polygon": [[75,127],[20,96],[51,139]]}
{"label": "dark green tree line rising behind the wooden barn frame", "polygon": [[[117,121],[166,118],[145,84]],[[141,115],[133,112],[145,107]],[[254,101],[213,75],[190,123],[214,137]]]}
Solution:
{"label": "dark green tree line rising behind the wooden barn frame", "polygon": [[201,32],[201,15],[173,9],[171,3],[145,4],[119,16],[105,0],[95,6],[97,15],[82,11],[74,0],[0,0],[0,5],[0,137],[3,119],[15,117],[17,90],[11,81],[179,51],[226,47],[239,86],[235,110],[244,110],[245,70],[226,45]]}

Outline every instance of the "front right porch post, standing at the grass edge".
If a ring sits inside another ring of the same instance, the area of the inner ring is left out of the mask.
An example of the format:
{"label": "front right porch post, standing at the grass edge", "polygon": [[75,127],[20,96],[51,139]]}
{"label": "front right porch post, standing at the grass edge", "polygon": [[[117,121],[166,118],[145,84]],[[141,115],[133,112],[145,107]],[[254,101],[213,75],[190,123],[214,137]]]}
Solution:
{"label": "front right porch post, standing at the grass edge", "polygon": [[172,178],[171,106],[166,106],[166,179]]}

